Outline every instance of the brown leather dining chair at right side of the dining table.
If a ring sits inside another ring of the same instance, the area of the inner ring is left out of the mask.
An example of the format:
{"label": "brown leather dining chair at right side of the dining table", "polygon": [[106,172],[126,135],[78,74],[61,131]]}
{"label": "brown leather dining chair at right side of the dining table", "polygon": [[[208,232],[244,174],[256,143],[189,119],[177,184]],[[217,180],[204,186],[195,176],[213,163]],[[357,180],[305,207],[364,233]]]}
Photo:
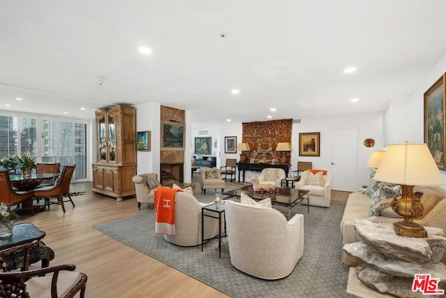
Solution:
{"label": "brown leather dining chair at right side of the dining table", "polygon": [[[71,202],[72,207],[75,207],[75,203],[70,197],[70,182],[73,172],[75,172],[76,165],[64,165],[61,175],[53,186],[44,186],[34,190],[34,198],[45,198],[45,206],[49,204],[59,204],[62,206],[63,212],[65,212],[64,202]],[[64,200],[64,196],[68,197],[68,200]],[[56,201],[50,199],[56,198]]]}

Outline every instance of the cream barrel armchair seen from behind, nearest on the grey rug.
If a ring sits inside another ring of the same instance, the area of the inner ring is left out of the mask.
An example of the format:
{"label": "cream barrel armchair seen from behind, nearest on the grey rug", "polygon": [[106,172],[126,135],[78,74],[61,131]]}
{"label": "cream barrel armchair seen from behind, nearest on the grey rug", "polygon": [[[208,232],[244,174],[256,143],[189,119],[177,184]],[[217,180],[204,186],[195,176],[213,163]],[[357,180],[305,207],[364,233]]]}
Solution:
{"label": "cream barrel armchair seen from behind, nearest on the grey rug", "polygon": [[229,255],[234,267],[264,279],[291,274],[304,251],[302,214],[286,221],[275,209],[231,200],[225,201],[224,209]]}

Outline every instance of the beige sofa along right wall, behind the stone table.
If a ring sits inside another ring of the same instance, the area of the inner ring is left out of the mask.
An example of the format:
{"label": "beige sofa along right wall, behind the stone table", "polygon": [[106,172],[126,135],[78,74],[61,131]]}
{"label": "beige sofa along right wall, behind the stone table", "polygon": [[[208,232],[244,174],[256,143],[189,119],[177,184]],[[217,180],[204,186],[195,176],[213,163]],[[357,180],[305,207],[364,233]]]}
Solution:
{"label": "beige sofa along right wall, behind the stone table", "polygon": [[[367,219],[375,223],[402,221],[402,218],[388,217],[397,215],[392,215],[391,213],[393,211],[387,208],[386,212],[382,211],[381,214],[388,214],[388,216],[369,216],[371,198],[369,195],[365,195],[364,191],[351,193],[348,196],[344,216],[342,216],[341,220],[342,246],[344,244],[357,242],[357,234],[354,227],[354,221],[356,219]],[[420,200],[424,205],[424,214],[422,218],[415,219],[415,223],[423,226],[442,228],[446,231],[446,190],[436,186],[415,186],[414,192],[416,191],[423,193]],[[357,266],[363,263],[362,260],[348,255],[344,250],[341,253],[341,260],[350,266]],[[442,262],[446,262],[446,254]]]}

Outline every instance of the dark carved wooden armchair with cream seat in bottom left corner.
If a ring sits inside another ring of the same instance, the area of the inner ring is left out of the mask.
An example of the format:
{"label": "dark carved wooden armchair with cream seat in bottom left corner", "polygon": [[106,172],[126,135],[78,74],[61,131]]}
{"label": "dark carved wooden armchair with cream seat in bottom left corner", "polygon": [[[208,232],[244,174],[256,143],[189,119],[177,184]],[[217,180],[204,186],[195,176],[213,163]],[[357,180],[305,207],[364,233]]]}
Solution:
{"label": "dark carved wooden armchair with cream seat in bottom left corner", "polygon": [[[4,271],[1,264],[0,269],[0,297],[85,297],[86,274],[75,271],[75,265],[57,265],[42,269],[29,270],[29,252],[31,248],[38,246],[35,240],[28,244],[13,246],[0,251],[1,256],[15,253],[24,254],[22,271]],[[17,295],[20,293],[20,295]]]}

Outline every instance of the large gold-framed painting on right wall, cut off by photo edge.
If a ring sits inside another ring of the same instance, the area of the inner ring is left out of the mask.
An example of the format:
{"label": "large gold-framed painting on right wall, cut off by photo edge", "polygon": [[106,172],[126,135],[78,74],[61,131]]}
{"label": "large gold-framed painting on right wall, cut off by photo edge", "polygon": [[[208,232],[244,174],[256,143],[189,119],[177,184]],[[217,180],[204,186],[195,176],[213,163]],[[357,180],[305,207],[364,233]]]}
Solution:
{"label": "large gold-framed painting on right wall, cut off by photo edge", "polygon": [[424,142],[440,170],[445,170],[446,73],[424,92]]}

